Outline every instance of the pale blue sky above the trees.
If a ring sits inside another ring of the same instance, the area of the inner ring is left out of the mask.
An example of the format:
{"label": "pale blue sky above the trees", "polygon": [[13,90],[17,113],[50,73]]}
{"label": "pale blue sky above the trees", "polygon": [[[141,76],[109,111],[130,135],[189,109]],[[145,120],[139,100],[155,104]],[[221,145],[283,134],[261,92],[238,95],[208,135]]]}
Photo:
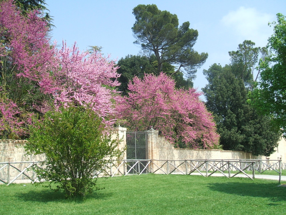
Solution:
{"label": "pale blue sky above the trees", "polygon": [[229,51],[237,50],[244,40],[266,46],[273,33],[268,22],[276,21],[276,14],[286,15],[285,0],[237,1],[97,1],[97,0],[46,0],[53,16],[52,39],[69,46],[76,41],[80,50],[88,46],[102,46],[104,54],[120,59],[128,54],[140,54],[140,47],[133,44],[131,28],[135,22],[132,9],[138,4],[156,4],[158,9],[176,14],[179,23],[190,22],[198,30],[194,49],[208,53],[206,63],[198,69],[194,87],[199,90],[207,84],[202,73],[214,63],[229,64]]}

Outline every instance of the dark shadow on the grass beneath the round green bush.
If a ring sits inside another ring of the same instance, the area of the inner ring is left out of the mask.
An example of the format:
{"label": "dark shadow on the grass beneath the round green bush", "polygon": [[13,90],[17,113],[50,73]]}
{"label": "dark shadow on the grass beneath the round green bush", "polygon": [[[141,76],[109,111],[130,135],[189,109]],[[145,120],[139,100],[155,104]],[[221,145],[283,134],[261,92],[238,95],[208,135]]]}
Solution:
{"label": "dark shadow on the grass beneath the round green bush", "polygon": [[22,199],[23,201],[27,202],[76,202],[76,203],[82,203],[87,199],[106,199],[110,198],[112,196],[112,193],[92,193],[88,194],[86,198],[79,197],[75,199],[66,199],[65,193],[61,191],[53,191],[50,189],[41,190],[41,191],[28,191],[28,192],[22,192],[17,194],[17,198]]}

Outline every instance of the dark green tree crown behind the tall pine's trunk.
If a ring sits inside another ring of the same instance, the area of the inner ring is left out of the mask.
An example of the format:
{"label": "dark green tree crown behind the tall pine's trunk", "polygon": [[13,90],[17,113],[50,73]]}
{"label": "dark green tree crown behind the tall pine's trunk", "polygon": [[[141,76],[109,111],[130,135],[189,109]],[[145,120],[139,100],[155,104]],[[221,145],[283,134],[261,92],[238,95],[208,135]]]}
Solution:
{"label": "dark green tree crown behind the tall pine's trunk", "polygon": [[[120,67],[117,73],[121,74],[117,79],[121,83],[118,86],[118,91],[121,91],[123,95],[127,95],[129,92],[128,83],[135,76],[142,79],[144,74],[156,74],[156,56],[152,54],[147,58],[140,55],[128,55],[118,60],[117,66]],[[162,70],[168,75],[174,73],[174,67],[167,62],[162,64]],[[176,81],[177,88],[188,89],[193,86],[190,79],[184,79],[182,72],[175,73],[172,78]]]}

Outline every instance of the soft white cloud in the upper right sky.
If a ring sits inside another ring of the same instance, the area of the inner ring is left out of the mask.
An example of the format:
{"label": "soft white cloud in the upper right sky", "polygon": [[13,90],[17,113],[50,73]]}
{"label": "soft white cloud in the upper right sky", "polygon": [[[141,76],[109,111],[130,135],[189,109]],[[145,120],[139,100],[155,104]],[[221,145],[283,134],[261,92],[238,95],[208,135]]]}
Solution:
{"label": "soft white cloud in the upper right sky", "polygon": [[273,20],[275,17],[271,14],[260,13],[255,8],[239,7],[236,11],[230,11],[221,21],[240,40],[251,40],[257,46],[265,46],[273,33],[268,23]]}

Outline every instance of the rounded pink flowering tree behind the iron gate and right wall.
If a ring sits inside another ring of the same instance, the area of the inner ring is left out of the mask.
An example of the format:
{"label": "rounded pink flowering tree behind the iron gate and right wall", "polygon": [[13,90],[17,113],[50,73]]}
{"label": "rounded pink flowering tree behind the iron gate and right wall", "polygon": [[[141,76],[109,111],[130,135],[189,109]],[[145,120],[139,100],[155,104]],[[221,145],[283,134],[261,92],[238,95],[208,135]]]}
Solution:
{"label": "rounded pink flowering tree behind the iron gate and right wall", "polygon": [[120,122],[148,130],[153,127],[177,147],[212,148],[219,142],[215,122],[195,89],[176,89],[173,79],[160,73],[134,77],[130,93],[118,102]]}

